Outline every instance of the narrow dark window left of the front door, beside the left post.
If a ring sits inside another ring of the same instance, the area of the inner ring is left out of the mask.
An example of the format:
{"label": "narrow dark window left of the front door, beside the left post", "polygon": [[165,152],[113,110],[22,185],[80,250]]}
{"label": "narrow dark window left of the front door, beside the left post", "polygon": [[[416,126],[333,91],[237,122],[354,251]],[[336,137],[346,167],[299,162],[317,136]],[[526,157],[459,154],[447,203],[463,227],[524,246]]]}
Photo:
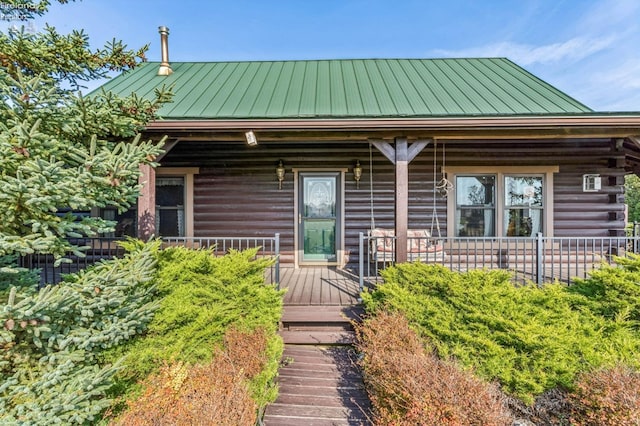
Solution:
{"label": "narrow dark window left of the front door, beside the left post", "polygon": [[184,176],[156,178],[156,232],[162,237],[185,235]]}

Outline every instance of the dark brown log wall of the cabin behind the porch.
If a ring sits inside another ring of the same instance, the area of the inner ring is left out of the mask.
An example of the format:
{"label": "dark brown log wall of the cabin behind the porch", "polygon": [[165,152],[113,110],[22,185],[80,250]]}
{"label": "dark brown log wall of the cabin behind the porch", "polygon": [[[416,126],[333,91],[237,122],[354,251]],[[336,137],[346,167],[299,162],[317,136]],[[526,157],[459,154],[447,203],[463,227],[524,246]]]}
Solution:
{"label": "dark brown log wall of the cabin behind the porch", "polygon": [[[449,166],[559,165],[554,176],[556,236],[609,236],[624,229],[624,153],[609,139],[551,141],[445,141],[438,144],[436,181],[442,177],[442,146]],[[409,227],[433,229],[433,145],[409,166]],[[372,149],[374,219],[394,226],[394,169]],[[275,168],[283,160],[286,176],[278,189]],[[360,160],[360,189],[353,166]],[[358,233],[371,226],[369,145],[366,142],[180,142],[163,166],[199,166],[195,178],[196,236],[281,235],[283,262],[293,262],[294,185],[292,168],[348,168],[345,177],[345,245],[357,261]],[[582,175],[600,173],[602,191],[582,192]],[[436,194],[436,214],[446,235],[446,200]]]}

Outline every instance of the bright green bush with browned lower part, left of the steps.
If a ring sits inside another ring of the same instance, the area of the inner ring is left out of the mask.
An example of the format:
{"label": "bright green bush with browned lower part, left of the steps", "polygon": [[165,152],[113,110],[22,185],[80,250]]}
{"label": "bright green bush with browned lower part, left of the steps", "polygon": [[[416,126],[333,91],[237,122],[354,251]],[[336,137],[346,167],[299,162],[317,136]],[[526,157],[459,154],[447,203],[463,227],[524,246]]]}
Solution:
{"label": "bright green bush with browned lower part, left of the steps", "polygon": [[275,399],[282,292],[264,284],[272,261],[255,254],[249,249],[214,257],[183,247],[160,253],[161,306],[146,336],[106,357],[125,357],[114,411],[128,409],[114,421],[145,424],[144,419],[175,415],[195,416],[198,423],[205,408],[218,407],[217,418],[234,424],[246,412],[259,416]]}

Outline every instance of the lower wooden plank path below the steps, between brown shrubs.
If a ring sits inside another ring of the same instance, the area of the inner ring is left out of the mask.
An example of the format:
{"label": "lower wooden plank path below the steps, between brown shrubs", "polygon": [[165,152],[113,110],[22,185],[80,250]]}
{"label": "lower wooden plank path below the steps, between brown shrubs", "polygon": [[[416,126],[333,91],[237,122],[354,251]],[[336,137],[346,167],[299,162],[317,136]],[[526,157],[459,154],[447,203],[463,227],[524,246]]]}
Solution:
{"label": "lower wooden plank path below the steps, between brown shrubs", "polygon": [[285,345],[279,395],[267,426],[371,425],[371,407],[350,346]]}

